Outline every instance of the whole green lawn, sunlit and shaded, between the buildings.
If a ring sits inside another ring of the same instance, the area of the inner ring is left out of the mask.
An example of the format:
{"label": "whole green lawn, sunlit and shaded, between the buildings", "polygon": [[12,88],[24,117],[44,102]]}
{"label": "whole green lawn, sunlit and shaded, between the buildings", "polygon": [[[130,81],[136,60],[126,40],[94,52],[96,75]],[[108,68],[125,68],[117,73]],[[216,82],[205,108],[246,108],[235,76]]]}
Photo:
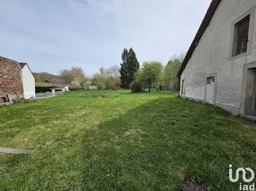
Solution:
{"label": "whole green lawn, sunlit and shaded, between the buildings", "polygon": [[0,190],[179,190],[184,176],[238,190],[256,170],[256,128],[161,91],[79,91],[0,107]]}

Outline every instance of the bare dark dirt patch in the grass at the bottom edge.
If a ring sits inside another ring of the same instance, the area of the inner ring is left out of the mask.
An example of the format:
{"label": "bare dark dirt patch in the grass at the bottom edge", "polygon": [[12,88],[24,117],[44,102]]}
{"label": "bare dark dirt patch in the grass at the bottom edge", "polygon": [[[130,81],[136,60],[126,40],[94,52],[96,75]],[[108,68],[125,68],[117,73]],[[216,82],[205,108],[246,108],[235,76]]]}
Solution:
{"label": "bare dark dirt patch in the grass at the bottom edge", "polygon": [[181,191],[208,191],[206,187],[189,176],[185,176]]}

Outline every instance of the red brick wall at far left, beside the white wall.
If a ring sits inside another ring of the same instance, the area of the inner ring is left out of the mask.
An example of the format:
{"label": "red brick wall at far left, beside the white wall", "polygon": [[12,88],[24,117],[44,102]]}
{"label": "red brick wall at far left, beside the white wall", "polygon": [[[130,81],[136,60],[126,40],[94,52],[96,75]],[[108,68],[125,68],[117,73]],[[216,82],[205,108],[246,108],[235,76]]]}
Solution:
{"label": "red brick wall at far left, beside the white wall", "polygon": [[0,95],[7,93],[13,99],[23,96],[21,67],[16,61],[0,57]]}

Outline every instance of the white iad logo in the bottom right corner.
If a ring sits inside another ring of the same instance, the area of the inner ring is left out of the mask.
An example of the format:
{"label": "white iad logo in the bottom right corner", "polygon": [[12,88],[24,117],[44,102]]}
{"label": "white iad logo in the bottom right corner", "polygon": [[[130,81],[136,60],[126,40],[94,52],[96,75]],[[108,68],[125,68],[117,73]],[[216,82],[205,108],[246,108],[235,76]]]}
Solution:
{"label": "white iad logo in the bottom right corner", "polygon": [[[255,172],[252,170],[252,168],[238,168],[236,170],[236,177],[235,179],[233,179],[233,165],[229,165],[230,169],[229,169],[229,178],[231,182],[238,182],[239,178],[240,178],[240,172],[242,174],[242,179],[244,180],[244,182],[249,183],[252,182],[255,179]],[[246,173],[247,172],[247,173]],[[251,175],[249,179],[247,179],[246,175],[249,176],[249,174]],[[255,183],[253,184],[242,184],[240,183],[239,185],[239,190],[255,190]]]}

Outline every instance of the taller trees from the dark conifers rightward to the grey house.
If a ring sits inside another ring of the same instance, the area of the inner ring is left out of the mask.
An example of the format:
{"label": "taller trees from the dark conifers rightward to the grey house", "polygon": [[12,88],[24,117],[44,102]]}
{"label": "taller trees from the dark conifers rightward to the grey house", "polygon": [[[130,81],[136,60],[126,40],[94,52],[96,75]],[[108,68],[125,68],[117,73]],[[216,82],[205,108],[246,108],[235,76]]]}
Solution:
{"label": "taller trees from the dark conifers rightward to the grey house", "polygon": [[124,48],[121,55],[121,84],[123,88],[132,88],[132,91],[138,92],[148,88],[157,90],[178,90],[179,79],[176,77],[178,69],[184,60],[184,55],[173,55],[170,61],[163,66],[158,61],[144,62],[140,64],[132,48],[129,51]]}

